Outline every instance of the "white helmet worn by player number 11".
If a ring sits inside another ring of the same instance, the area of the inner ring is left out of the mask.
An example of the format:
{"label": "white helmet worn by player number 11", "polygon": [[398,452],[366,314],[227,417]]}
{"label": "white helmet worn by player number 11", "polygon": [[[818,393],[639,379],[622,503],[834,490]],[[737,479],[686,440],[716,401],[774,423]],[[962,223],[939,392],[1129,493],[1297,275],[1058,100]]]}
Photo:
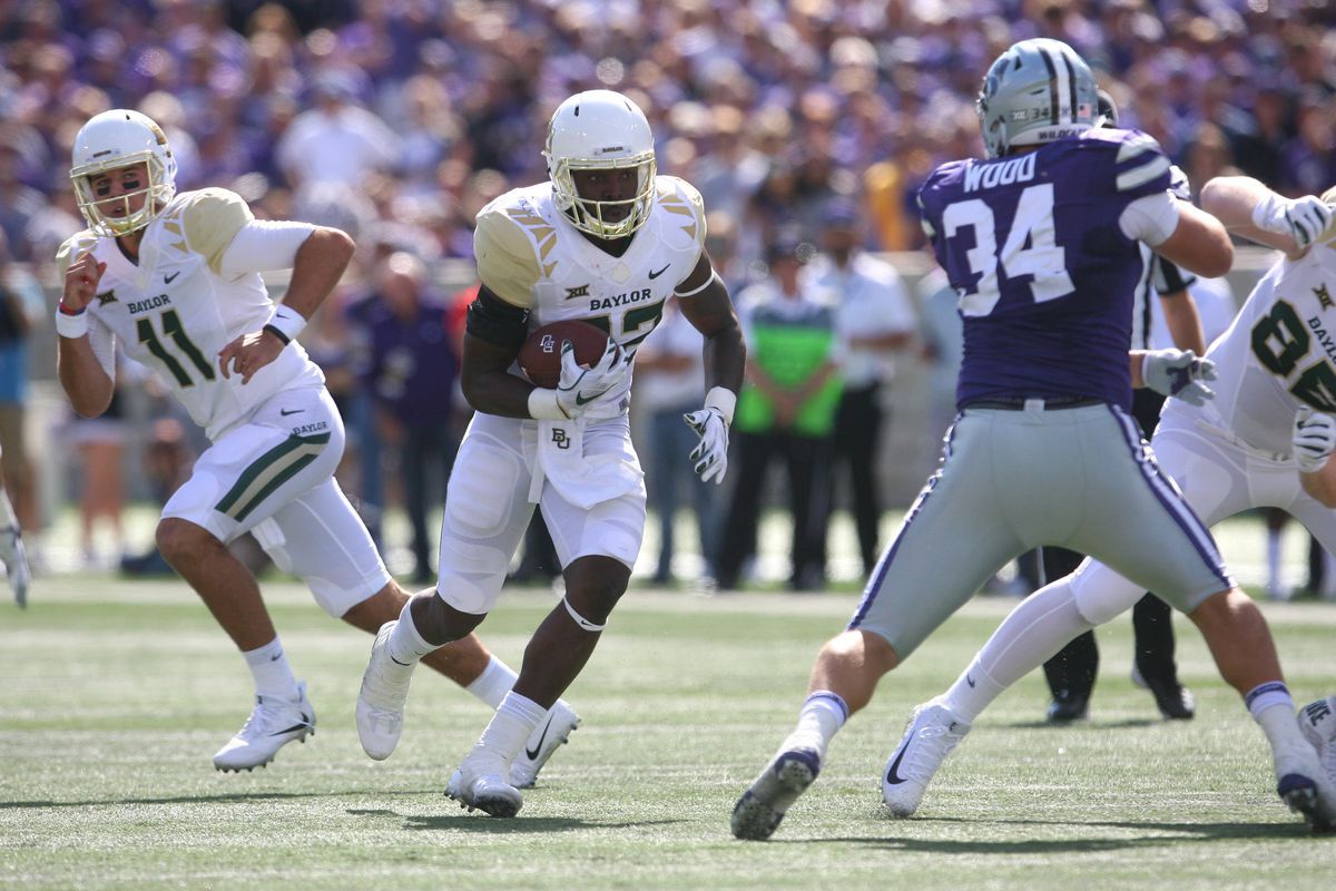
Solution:
{"label": "white helmet worn by player number 11", "polygon": [[[100,199],[90,176],[138,163],[148,164],[148,182],[132,192]],[[69,179],[88,227],[98,235],[128,235],[156,218],[176,194],[176,159],[151,118],[131,108],[115,108],[94,115],[75,136]],[[143,195],[143,207],[132,211],[132,200]],[[106,208],[122,202],[126,214],[114,216]]]}

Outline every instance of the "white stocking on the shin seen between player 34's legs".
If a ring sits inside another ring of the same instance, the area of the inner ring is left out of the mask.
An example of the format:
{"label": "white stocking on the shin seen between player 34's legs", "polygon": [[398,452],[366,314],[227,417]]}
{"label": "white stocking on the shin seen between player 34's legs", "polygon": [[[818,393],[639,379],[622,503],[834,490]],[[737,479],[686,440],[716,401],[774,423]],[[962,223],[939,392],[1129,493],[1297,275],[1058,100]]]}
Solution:
{"label": "white stocking on the shin seen between player 34's legs", "polygon": [[[962,696],[961,705],[965,711],[958,712],[961,717],[973,721],[997,693],[1051,659],[1073,637],[1094,628],[1077,609],[1075,594],[1071,593],[1067,578],[1045,585],[1022,600],[993,632],[989,643],[983,644],[983,649],[975,657],[975,665],[1001,689],[989,696],[987,691],[979,692],[975,687],[981,704],[973,708],[971,697]],[[974,681],[982,684],[981,677],[975,677]],[[967,713],[971,711],[973,713]]]}

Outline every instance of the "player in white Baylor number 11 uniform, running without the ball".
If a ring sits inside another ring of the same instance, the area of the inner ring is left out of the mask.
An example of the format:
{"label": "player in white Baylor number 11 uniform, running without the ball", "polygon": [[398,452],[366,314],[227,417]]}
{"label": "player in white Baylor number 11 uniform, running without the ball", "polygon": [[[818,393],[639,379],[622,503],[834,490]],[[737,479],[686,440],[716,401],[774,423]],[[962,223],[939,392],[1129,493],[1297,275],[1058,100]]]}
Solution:
{"label": "player in white Baylor number 11 uniform, running without the ball", "polygon": [[[407,602],[334,481],[343,422],[298,334],[338,283],[353,242],[334,228],[259,222],[240,196],[176,194],[162,128],[128,110],[96,115],[75,138],[69,178],[88,228],[60,246],[60,383],[75,410],[111,401],[118,345],[155,369],[211,446],[158,524],[158,546],[242,651],[255,680],[244,727],[214,756],[220,771],[263,767],[315,728],[255,578],[227,550],[251,532],[306,581],[331,616],[375,632]],[[293,270],[275,303],[261,273]],[[514,672],[476,637],[432,667],[489,704]],[[549,703],[552,704],[552,703]],[[557,703],[545,736],[512,777],[532,783],[578,721]]]}

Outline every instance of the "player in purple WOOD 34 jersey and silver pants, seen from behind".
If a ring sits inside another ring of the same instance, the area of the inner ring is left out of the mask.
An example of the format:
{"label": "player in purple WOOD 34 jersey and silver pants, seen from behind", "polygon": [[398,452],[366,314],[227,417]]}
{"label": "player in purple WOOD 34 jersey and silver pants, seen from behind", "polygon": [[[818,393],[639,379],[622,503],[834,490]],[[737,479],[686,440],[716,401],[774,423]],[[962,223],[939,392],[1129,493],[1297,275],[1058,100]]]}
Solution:
{"label": "player in purple WOOD 34 jersey and silver pants, seen from behind", "polygon": [[[735,806],[740,839],[768,838],[880,677],[1037,545],[1092,554],[1188,613],[1259,715],[1281,796],[1315,826],[1336,814],[1265,620],[1129,413],[1134,386],[1202,402],[1213,377],[1192,353],[1129,354],[1145,262],[1138,242],[1216,277],[1233,259],[1229,236],[1169,194],[1169,159],[1154,139],[1096,130],[1096,104],[1094,76],[1070,47],[1021,41],[983,81],[987,158],[943,164],[919,191],[965,321],[959,414],[848,628],[818,655],[798,725]],[[1073,618],[1043,602],[1034,610],[1035,622]],[[892,812],[914,752],[902,748],[887,765],[882,791]]]}

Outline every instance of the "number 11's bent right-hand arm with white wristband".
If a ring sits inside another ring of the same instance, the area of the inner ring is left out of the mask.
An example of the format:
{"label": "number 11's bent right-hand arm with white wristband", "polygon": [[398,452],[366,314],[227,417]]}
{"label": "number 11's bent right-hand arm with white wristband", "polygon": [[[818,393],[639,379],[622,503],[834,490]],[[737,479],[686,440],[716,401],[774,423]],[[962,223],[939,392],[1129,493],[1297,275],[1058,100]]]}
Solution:
{"label": "number 11's bent right-hand arm with white wristband", "polygon": [[353,239],[341,230],[319,227],[311,232],[297,250],[291,283],[282,307],[275,313],[275,319],[290,314],[289,319],[295,327],[285,330],[271,322],[258,331],[238,337],[218,353],[218,367],[223,377],[230,378],[236,371],[242,375],[243,385],[250,383],[257,371],[277,359],[291,342],[291,331],[301,330],[338,285],[353,259]]}

